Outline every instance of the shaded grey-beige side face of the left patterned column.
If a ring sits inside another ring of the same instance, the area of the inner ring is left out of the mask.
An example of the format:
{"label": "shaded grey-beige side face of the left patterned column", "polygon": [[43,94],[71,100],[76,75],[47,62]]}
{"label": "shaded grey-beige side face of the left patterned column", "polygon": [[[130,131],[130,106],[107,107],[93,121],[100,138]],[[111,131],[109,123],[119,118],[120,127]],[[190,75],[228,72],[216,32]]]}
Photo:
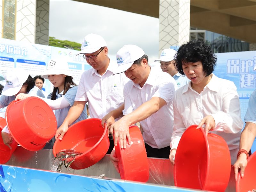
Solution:
{"label": "shaded grey-beige side face of the left patterned column", "polygon": [[36,0],[36,44],[49,45],[49,0]]}

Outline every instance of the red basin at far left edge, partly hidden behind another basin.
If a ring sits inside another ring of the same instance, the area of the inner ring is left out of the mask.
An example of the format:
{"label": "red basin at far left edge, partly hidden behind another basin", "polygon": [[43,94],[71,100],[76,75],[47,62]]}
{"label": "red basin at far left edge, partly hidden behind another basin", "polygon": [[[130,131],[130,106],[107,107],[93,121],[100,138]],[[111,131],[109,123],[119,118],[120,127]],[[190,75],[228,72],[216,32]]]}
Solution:
{"label": "red basin at far left edge, partly hidden behind another basin", "polygon": [[[5,126],[5,119],[3,117],[0,117],[0,132],[2,131],[2,129],[4,129]],[[0,164],[5,164],[10,160],[12,153],[17,148],[17,145],[18,143],[15,140],[13,140],[13,142],[10,144],[12,149],[10,149],[7,145],[4,144],[2,134],[0,135]]]}

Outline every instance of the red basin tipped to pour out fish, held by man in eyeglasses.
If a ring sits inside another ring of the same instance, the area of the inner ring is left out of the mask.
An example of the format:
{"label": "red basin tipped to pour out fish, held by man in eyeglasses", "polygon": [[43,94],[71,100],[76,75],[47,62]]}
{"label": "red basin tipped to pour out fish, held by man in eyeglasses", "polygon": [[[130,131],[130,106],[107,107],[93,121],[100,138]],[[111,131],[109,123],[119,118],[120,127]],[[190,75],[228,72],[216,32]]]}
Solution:
{"label": "red basin tipped to pour out fish, held by man in eyeglasses", "polygon": [[85,169],[102,159],[109,148],[107,125],[101,126],[101,119],[91,118],[79,121],[68,128],[62,140],[53,145],[53,155],[65,149],[82,153],[70,165],[72,169]]}

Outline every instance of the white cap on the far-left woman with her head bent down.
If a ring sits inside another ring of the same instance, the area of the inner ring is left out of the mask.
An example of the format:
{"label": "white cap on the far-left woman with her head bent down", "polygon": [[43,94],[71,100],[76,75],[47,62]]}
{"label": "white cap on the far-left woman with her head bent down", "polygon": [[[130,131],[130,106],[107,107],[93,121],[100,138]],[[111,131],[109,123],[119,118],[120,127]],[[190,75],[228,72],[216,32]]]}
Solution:
{"label": "white cap on the far-left woman with her head bent down", "polygon": [[28,76],[28,72],[22,68],[13,68],[7,71],[7,73],[4,75],[6,83],[4,85],[2,94],[6,96],[13,96],[17,94],[22,85],[27,81]]}

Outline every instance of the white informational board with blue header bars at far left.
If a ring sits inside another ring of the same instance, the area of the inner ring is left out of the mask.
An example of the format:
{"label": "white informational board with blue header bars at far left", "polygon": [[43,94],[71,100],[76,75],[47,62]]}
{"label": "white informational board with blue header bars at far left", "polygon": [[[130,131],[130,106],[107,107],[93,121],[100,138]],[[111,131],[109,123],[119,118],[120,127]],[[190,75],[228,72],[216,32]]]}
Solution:
{"label": "white informational board with blue header bars at far left", "polygon": [[[27,70],[32,77],[41,75],[50,58],[51,46],[0,39],[0,75],[2,77],[14,67]],[[45,81],[43,88],[50,93],[50,82]]]}

